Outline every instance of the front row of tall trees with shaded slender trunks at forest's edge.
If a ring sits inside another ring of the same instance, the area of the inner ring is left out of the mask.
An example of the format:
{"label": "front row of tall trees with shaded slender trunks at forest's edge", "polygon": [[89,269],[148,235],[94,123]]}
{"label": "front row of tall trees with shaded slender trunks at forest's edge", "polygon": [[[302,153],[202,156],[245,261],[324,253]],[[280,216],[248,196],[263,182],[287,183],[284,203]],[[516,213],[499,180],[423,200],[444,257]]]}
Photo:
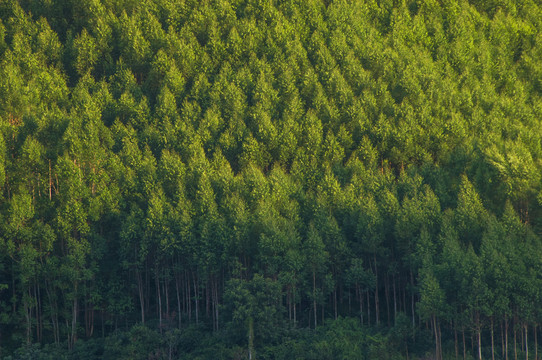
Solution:
{"label": "front row of tall trees with shaded slender trunks at forest's edge", "polygon": [[[185,167],[170,153],[143,158],[117,169],[122,180],[101,184],[85,184],[91,175],[64,161],[68,177],[51,170],[62,195],[49,198],[47,182],[34,198],[12,195],[2,243],[5,341],[17,341],[11,333],[73,344],[96,328],[103,335],[149,320],[219,330],[254,316],[267,329],[338,316],[378,327],[403,313],[413,335],[429,324],[437,353],[442,328],[456,353],[467,351],[465,336],[475,337],[479,356],[482,338],[492,355],[528,351],[529,338],[536,352],[539,237],[510,202],[489,213],[466,177],[457,206],[441,211],[419,175],[395,178],[359,161],[346,167],[346,184],[328,173],[308,193],[278,167],[234,176],[224,159]],[[374,194],[361,178],[380,182]],[[176,190],[166,196],[168,188]],[[53,202],[50,220],[36,216]],[[259,292],[270,292],[270,303],[251,303]]]}

